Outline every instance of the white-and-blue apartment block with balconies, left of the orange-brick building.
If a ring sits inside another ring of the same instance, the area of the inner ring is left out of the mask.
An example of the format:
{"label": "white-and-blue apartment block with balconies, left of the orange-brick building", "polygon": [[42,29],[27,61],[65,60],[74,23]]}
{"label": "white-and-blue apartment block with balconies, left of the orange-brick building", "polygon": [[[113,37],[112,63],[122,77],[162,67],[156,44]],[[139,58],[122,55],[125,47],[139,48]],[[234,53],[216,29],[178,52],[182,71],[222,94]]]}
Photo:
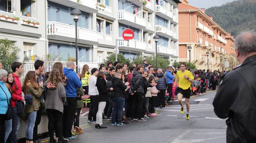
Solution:
{"label": "white-and-blue apartment block with balconies, left of the orange-brick building", "polygon": [[[116,40],[123,39],[122,33],[128,28],[133,30],[134,38],[129,44],[117,42],[118,52],[126,58],[153,55],[153,37],[158,35],[157,54],[171,63],[178,60],[179,0],[16,0],[15,4],[13,1],[1,0],[0,14],[20,19],[12,21],[1,17],[0,38],[17,43],[22,50],[21,61],[25,55],[44,58],[48,55],[48,59],[63,62],[75,57],[75,22],[70,16],[73,9],[82,12],[78,21],[79,66],[96,67],[115,53]],[[24,7],[25,14],[14,14],[13,9],[21,11]],[[31,15],[26,16],[27,12]],[[23,19],[35,24],[24,24]],[[6,36],[8,33],[12,36]],[[17,33],[23,35],[17,36]]]}

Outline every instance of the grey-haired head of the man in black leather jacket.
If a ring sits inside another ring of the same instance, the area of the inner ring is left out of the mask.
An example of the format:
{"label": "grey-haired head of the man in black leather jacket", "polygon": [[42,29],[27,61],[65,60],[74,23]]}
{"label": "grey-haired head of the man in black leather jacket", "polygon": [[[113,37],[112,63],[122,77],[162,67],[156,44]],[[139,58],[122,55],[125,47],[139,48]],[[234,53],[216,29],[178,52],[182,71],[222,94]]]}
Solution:
{"label": "grey-haired head of the man in black leather jacket", "polygon": [[256,52],[256,34],[244,32],[236,36],[235,50],[243,56]]}

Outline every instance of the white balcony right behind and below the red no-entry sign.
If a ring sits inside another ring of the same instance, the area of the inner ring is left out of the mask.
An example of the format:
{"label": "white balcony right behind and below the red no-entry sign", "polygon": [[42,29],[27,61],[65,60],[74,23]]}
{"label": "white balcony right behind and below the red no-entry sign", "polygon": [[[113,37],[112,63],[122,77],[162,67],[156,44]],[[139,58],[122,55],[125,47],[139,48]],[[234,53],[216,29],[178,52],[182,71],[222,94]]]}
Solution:
{"label": "white balcony right behind and below the red no-entry sign", "polygon": [[[123,39],[122,37],[119,37],[119,39]],[[147,43],[139,40],[129,40],[129,45],[127,41],[118,41],[117,44],[119,47],[124,47],[127,50],[131,50],[131,48],[139,49],[141,51],[146,51]]]}

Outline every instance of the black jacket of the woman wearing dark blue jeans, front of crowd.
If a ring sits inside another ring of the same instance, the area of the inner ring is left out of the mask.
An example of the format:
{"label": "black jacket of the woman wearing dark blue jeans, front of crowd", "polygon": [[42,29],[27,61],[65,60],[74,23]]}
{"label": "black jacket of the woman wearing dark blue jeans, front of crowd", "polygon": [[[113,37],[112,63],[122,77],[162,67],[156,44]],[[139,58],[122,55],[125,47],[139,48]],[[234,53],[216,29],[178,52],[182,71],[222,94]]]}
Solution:
{"label": "black jacket of the woman wearing dark blue jeans, front of crowd", "polygon": [[123,81],[121,79],[113,77],[112,84],[114,88],[114,97],[125,97],[125,89],[127,88],[127,86],[124,85]]}

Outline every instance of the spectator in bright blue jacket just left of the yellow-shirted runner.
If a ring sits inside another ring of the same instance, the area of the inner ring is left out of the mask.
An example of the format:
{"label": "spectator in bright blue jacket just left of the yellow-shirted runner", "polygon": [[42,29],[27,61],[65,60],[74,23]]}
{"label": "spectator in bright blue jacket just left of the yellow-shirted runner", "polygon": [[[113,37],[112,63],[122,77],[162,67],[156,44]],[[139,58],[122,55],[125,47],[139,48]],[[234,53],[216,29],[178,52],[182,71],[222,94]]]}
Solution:
{"label": "spectator in bright blue jacket just left of the yellow-shirted runner", "polygon": [[166,72],[166,77],[168,80],[168,88],[167,88],[167,93],[169,93],[169,98],[167,101],[174,101],[175,96],[172,96],[172,82],[173,82],[173,69],[171,66],[167,67],[167,72]]}

